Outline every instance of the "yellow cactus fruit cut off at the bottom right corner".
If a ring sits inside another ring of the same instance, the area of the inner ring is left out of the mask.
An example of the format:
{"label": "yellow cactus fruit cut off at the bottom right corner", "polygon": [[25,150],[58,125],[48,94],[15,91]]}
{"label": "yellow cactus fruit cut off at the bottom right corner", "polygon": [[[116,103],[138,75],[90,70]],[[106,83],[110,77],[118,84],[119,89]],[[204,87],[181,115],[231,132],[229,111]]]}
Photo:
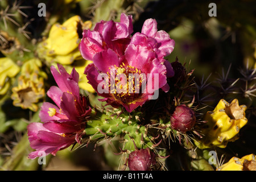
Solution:
{"label": "yellow cactus fruit cut off at the bottom right corner", "polygon": [[243,156],[241,159],[233,157],[229,162],[216,169],[217,171],[256,171],[255,155]]}

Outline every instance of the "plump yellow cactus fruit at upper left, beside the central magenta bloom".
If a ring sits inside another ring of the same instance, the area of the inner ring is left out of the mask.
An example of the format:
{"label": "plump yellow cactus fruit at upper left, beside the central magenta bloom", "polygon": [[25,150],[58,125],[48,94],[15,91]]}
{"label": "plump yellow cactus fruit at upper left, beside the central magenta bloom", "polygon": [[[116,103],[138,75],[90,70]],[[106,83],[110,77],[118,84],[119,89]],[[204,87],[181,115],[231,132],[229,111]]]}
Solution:
{"label": "plump yellow cactus fruit at upper left, beside the central magenta bloom", "polygon": [[38,46],[39,56],[51,65],[60,63],[72,64],[75,59],[81,59],[79,51],[82,30],[92,27],[92,22],[82,22],[80,16],[72,16],[63,24],[53,24],[49,36]]}

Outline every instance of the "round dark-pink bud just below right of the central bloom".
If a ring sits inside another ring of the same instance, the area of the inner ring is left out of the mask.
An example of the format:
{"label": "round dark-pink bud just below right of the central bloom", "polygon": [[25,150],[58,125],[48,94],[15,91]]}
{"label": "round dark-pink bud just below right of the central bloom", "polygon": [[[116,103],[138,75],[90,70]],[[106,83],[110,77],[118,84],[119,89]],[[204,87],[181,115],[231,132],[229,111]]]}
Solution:
{"label": "round dark-pink bud just below right of the central bloom", "polygon": [[186,105],[179,105],[171,115],[171,127],[180,132],[192,129],[196,123],[196,115],[192,109]]}

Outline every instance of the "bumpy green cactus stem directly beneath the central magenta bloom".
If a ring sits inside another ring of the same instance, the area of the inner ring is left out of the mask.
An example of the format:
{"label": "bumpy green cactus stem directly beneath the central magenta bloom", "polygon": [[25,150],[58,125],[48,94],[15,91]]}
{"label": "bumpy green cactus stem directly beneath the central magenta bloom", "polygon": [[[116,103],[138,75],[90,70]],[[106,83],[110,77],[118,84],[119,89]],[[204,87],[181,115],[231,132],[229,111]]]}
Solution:
{"label": "bumpy green cactus stem directly beneath the central magenta bloom", "polygon": [[89,141],[105,137],[123,136],[123,148],[127,152],[135,150],[133,140],[138,148],[154,148],[155,143],[147,135],[147,127],[139,124],[138,113],[131,115],[118,109],[94,109],[87,122],[85,135]]}

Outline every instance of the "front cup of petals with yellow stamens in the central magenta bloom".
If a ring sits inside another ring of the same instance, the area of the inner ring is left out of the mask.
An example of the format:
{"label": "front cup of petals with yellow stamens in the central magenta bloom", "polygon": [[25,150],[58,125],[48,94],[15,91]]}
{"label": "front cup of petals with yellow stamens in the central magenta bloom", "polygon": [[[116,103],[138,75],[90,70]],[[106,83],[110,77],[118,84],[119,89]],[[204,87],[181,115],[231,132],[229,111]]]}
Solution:
{"label": "front cup of petals with yellow stamens in the central magenta bloom", "polygon": [[[143,56],[141,55],[142,52]],[[85,73],[87,74],[89,84],[93,86],[98,95],[105,97],[101,101],[106,101],[113,107],[123,106],[127,111],[131,112],[138,106],[143,105],[149,99],[149,96],[154,95],[154,93],[148,92],[147,88],[152,88],[155,91],[167,84],[167,71],[166,67],[160,64],[152,52],[147,52],[143,48],[137,49],[137,47],[129,45],[126,49],[125,57],[128,64],[119,63],[118,56],[112,49],[102,51],[94,56],[94,65],[87,67]],[[102,62],[105,64],[102,64]],[[111,71],[113,74],[111,74]],[[104,85],[104,92],[100,92],[98,88],[98,85],[102,82],[102,80],[98,80],[101,73],[105,73],[105,76],[109,78]],[[135,80],[130,80],[130,82],[128,80],[129,74],[133,73],[142,75],[139,78],[138,84],[135,83]],[[126,79],[123,80],[122,85],[120,81],[115,79],[119,75],[123,75]],[[158,76],[158,80],[156,80],[155,75]],[[111,84],[112,79],[114,80],[114,86]],[[143,88],[144,80],[150,81]],[[131,90],[129,90],[129,85],[133,85]],[[113,89],[111,86],[113,86]],[[118,89],[121,89],[121,92],[118,93]]]}

